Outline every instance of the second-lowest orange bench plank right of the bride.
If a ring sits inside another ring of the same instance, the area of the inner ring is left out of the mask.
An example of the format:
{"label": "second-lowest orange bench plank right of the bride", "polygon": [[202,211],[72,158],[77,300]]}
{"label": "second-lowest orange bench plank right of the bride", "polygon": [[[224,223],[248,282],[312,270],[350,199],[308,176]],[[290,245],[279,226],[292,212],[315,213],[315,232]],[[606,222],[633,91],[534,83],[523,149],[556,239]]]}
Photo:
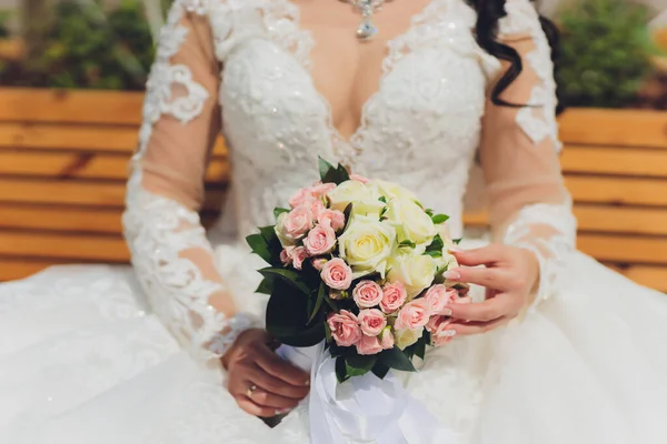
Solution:
{"label": "second-lowest orange bench plank right of the bride", "polygon": [[667,238],[583,233],[577,246],[599,261],[667,265]]}

